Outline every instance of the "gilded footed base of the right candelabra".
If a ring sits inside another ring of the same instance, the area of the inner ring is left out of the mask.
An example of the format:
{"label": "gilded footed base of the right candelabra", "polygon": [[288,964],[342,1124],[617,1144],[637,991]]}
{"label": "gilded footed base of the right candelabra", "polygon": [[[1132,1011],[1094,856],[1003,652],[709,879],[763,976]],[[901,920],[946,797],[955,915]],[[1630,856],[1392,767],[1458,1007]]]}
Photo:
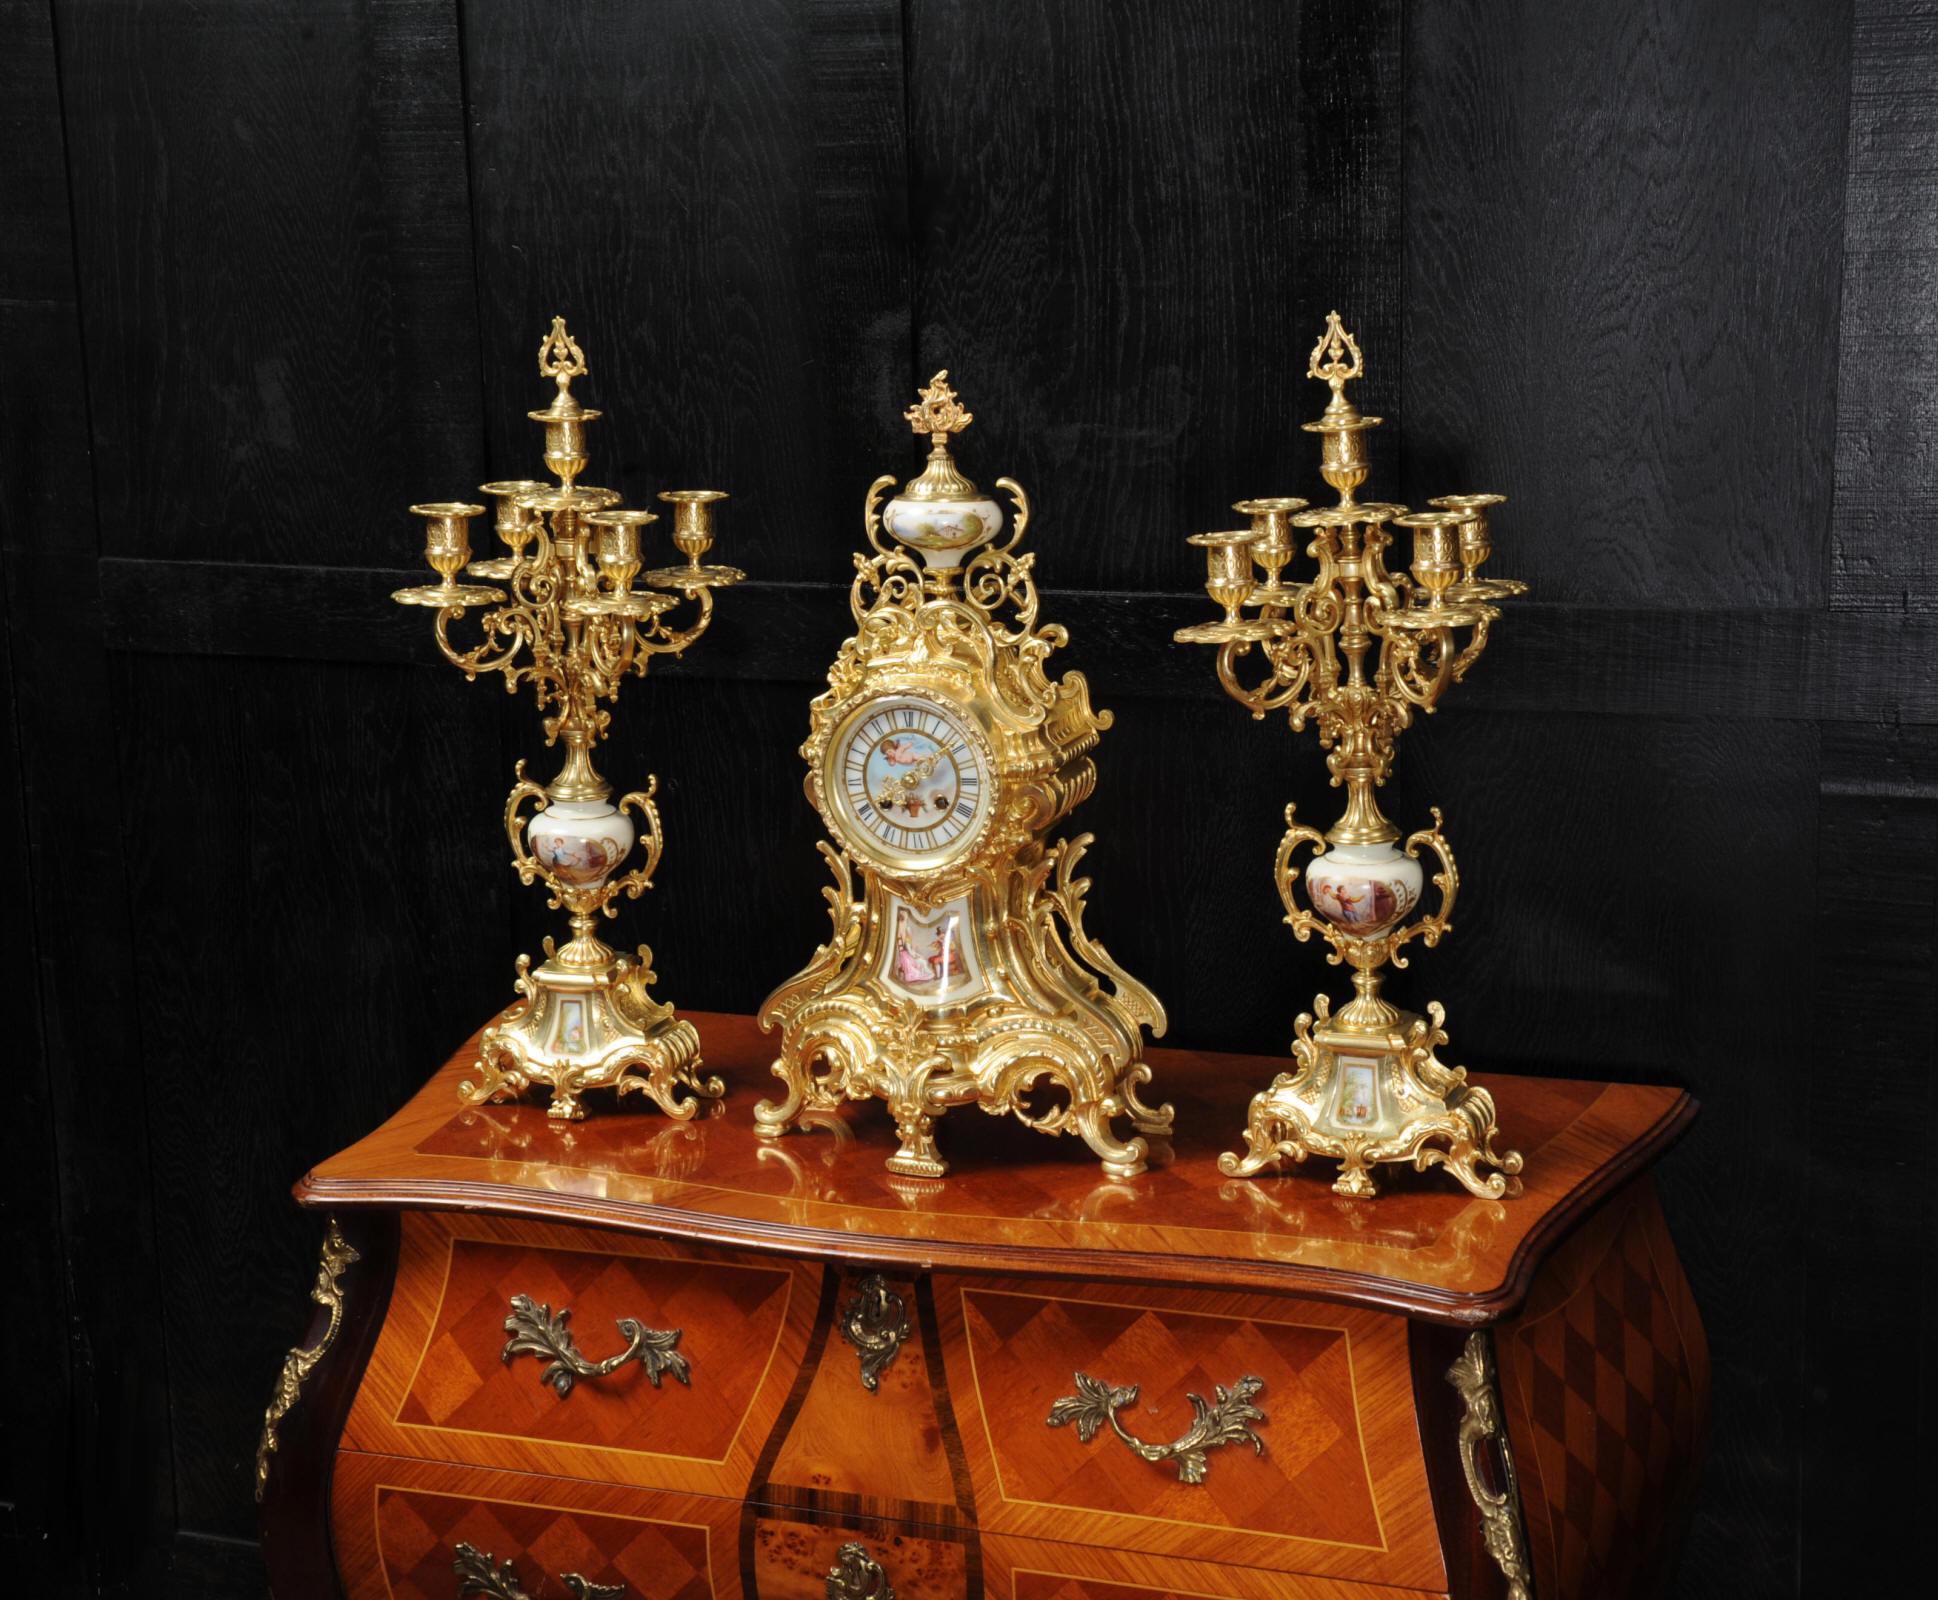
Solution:
{"label": "gilded footed base of the right candelabra", "polygon": [[[1438,1001],[1424,1017],[1393,1011],[1384,1027],[1335,1021],[1326,996],[1314,1011],[1293,1025],[1295,1071],[1252,1096],[1244,1154],[1221,1154],[1219,1172],[1250,1178],[1281,1160],[1320,1154],[1339,1162],[1333,1191],[1359,1199],[1380,1191],[1374,1166],[1399,1160],[1417,1172],[1444,1166],[1485,1199],[1521,1191],[1519,1153],[1494,1147],[1494,1096],[1467,1083],[1465,1067],[1448,1067],[1434,1054],[1448,1042]],[[1483,1166],[1496,1170],[1483,1176]]]}

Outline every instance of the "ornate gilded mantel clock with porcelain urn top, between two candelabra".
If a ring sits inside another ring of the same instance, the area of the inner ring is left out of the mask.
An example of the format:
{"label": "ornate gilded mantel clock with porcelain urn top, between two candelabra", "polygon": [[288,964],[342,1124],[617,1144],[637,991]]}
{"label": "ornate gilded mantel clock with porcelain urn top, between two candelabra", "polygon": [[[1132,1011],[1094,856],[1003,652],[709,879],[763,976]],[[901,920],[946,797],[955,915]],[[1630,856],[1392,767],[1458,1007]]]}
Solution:
{"label": "ornate gilded mantel clock with porcelain urn top, between two candelabra", "polygon": [[1161,1034],[1165,1011],[1083,932],[1089,835],[1047,841],[1091,792],[1110,715],[1079,672],[1045,672],[1068,635],[1037,626],[1029,500],[998,478],[1016,519],[996,542],[1004,509],[950,457],[971,415],[946,380],[907,413],[930,444],[921,477],[886,506],[895,478],[876,478],[862,509],[855,635],[800,750],[835,839],[833,936],[762,1007],[787,1092],[754,1122],[773,1137],[880,1096],[890,1170],[940,1178],[934,1120],[975,1104],[1076,1133],[1128,1178],[1169,1156],[1171,1108],[1138,1098],[1140,1027]]}

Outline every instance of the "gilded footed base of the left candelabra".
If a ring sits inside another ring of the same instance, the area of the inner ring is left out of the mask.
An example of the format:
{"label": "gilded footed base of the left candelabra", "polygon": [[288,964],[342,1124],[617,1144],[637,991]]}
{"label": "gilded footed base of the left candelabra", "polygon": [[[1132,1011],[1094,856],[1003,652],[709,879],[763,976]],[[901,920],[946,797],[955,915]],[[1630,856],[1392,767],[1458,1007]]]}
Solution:
{"label": "gilded footed base of the left candelabra", "polygon": [[[581,967],[554,955],[533,970],[531,957],[517,959],[517,992],[523,996],[479,1040],[479,1077],[457,1085],[465,1104],[510,1100],[533,1085],[550,1091],[548,1118],[578,1122],[585,1116],[579,1096],[612,1089],[620,1098],[645,1094],[667,1116],[688,1122],[700,1100],[727,1092],[719,1077],[700,1075],[700,1034],[647,992],[653,953],[618,955],[599,967]],[[684,1091],[684,1096],[682,1096]]]}

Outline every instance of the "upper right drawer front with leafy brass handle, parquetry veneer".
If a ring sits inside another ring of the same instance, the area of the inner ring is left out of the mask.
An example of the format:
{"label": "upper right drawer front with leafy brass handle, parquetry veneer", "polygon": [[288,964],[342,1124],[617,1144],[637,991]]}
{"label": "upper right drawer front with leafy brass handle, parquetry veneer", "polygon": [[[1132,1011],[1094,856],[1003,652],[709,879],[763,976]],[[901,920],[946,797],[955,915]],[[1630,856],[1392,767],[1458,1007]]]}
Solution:
{"label": "upper right drawer front with leafy brass handle, parquetry veneer", "polygon": [[[1136,1284],[934,1290],[985,1534],[1446,1583],[1401,1317]],[[1194,1431],[1227,1441],[1192,1451]]]}

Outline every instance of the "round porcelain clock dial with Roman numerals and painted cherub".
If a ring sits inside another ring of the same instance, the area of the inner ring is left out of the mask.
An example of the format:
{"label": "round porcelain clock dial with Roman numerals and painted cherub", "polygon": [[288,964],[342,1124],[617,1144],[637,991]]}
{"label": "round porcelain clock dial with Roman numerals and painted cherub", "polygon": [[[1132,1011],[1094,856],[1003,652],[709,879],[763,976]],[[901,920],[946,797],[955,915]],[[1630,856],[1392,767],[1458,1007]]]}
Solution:
{"label": "round porcelain clock dial with Roman numerals and painted cherub", "polygon": [[893,872],[948,866],[990,814],[988,742],[948,701],[876,695],[828,742],[822,794],[843,843]]}

